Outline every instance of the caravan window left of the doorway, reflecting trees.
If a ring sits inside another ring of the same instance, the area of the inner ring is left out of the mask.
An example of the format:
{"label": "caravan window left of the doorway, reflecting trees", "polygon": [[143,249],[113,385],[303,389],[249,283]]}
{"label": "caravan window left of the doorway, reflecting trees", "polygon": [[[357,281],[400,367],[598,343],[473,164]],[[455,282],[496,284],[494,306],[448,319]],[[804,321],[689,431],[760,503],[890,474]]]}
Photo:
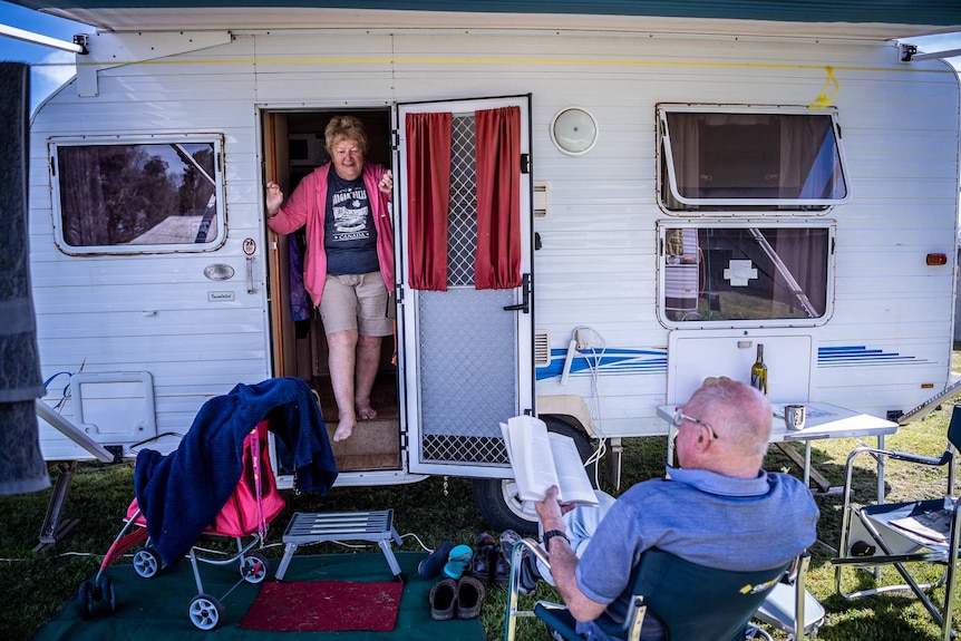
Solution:
{"label": "caravan window left of the doorway, reflecting trees", "polygon": [[51,139],[50,148],[65,251],[203,251],[223,242],[219,138]]}

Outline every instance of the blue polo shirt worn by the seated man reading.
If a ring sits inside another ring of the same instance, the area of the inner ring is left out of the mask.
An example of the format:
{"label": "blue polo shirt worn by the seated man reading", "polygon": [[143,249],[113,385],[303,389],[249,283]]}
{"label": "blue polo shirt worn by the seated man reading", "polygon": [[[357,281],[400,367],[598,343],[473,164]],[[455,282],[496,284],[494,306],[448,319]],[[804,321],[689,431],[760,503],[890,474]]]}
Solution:
{"label": "blue polo shirt worn by the seated man reading", "polygon": [[[705,469],[667,473],[618,498],[577,563],[579,587],[608,603],[615,621],[627,614],[631,569],[650,547],[708,567],[755,571],[784,565],[815,541],[817,505],[793,476],[763,469],[750,479]],[[593,622],[579,623],[577,631],[611,639]],[[641,638],[658,635],[645,622]]]}

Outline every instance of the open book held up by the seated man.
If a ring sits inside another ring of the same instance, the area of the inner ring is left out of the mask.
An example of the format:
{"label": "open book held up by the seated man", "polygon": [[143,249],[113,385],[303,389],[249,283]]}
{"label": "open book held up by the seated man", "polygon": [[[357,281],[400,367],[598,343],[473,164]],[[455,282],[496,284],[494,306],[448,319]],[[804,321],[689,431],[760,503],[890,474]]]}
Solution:
{"label": "open book held up by the seated man", "polygon": [[501,424],[507,457],[514,468],[521,501],[543,501],[556,485],[561,503],[596,505],[598,497],[574,439],[547,431],[533,416],[515,416]]}

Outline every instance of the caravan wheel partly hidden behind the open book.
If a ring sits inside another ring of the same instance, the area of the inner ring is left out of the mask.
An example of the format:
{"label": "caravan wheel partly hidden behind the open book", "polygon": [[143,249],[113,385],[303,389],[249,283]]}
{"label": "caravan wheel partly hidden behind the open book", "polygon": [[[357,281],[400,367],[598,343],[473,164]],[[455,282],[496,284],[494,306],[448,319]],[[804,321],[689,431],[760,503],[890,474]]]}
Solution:
{"label": "caravan wheel partly hidden behind the open book", "polygon": [[[550,431],[563,434],[574,439],[581,460],[593,454],[588,436],[576,427],[553,417],[542,417]],[[594,480],[594,467],[588,467],[588,476]],[[513,478],[475,478],[474,502],[480,508],[484,521],[492,530],[503,532],[515,530],[521,534],[537,533],[537,513],[532,505],[524,505],[517,498],[517,485]]]}

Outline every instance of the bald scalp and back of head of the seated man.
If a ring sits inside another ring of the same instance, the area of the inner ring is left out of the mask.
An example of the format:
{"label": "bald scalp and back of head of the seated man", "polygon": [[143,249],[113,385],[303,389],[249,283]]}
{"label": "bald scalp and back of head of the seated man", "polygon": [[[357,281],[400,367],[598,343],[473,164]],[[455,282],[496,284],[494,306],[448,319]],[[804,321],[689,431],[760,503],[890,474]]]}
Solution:
{"label": "bald scalp and back of head of the seated man", "polygon": [[[727,378],[707,382],[685,406],[685,411],[708,421],[721,449],[738,454],[748,467],[760,466],[770,438],[770,404],[755,388]],[[748,460],[749,459],[749,460]],[[755,467],[755,469],[757,469]]]}

